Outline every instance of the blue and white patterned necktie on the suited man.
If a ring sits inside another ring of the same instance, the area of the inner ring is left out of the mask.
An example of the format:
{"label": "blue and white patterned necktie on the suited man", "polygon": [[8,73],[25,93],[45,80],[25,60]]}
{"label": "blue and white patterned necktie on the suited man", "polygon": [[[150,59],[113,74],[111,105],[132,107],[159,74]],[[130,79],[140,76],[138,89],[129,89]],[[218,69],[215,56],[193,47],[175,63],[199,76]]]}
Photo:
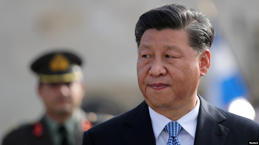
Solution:
{"label": "blue and white patterned necktie on the suited man", "polygon": [[180,145],[177,135],[182,130],[182,126],[175,121],[169,122],[166,127],[164,127],[164,130],[166,130],[169,133],[169,139],[167,141],[167,145]]}

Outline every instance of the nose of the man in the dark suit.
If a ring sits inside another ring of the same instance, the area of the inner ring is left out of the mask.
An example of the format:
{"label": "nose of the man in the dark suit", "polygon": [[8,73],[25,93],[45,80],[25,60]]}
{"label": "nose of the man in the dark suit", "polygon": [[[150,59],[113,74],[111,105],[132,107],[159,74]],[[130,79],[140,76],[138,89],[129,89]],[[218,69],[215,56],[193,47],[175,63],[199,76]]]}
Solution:
{"label": "nose of the man in the dark suit", "polygon": [[165,76],[167,74],[167,70],[164,67],[163,60],[160,60],[159,58],[156,58],[152,65],[150,70],[148,71],[149,75],[158,77],[158,76]]}

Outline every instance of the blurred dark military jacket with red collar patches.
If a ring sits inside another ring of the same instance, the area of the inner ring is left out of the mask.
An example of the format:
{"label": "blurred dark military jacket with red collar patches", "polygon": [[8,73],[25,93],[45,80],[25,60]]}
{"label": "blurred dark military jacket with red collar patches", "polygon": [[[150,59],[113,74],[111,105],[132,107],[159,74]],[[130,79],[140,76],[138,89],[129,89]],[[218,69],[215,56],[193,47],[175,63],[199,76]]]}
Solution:
{"label": "blurred dark military jacket with red collar patches", "polygon": [[[87,116],[84,111],[77,110],[68,119],[67,124],[65,123],[70,137],[69,144],[82,144],[83,132],[92,127]],[[2,145],[59,145],[61,140],[58,134],[59,125],[49,119],[45,115],[38,122],[20,126],[4,138]]]}

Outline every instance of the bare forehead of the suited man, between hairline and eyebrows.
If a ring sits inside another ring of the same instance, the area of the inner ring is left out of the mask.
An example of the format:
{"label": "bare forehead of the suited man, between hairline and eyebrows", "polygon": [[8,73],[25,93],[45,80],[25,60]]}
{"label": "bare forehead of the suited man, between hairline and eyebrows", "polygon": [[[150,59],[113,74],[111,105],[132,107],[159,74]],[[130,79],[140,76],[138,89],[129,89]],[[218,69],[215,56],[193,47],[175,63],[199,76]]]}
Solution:
{"label": "bare forehead of the suited man, between hairline and eyebrows", "polygon": [[181,49],[190,46],[188,44],[188,35],[185,31],[173,29],[148,29],[141,37],[139,49],[151,49],[153,47]]}

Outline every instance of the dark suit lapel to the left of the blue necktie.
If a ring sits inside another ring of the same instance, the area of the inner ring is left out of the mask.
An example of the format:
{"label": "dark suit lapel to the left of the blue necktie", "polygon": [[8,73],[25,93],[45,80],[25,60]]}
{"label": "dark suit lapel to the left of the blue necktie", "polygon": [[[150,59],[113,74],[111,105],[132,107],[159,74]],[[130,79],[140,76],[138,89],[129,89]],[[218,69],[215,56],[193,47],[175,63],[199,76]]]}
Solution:
{"label": "dark suit lapel to the left of the blue necktie", "polygon": [[125,118],[125,128],[122,128],[122,139],[125,145],[155,145],[155,136],[149,115],[148,105],[143,101]]}

